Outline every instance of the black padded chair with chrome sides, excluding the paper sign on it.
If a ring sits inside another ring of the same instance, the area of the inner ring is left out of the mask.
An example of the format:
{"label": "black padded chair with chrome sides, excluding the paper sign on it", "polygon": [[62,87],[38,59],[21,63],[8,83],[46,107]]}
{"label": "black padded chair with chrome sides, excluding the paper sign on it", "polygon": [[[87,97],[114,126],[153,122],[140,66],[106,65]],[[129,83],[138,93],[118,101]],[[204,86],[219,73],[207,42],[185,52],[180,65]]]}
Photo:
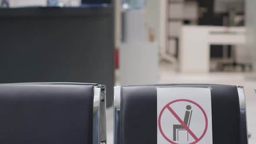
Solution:
{"label": "black padded chair with chrome sides, excluding the paper sign on it", "polygon": [[[210,88],[213,144],[248,144],[243,87],[213,84],[115,87],[114,144],[157,144],[157,88],[166,87]],[[187,120],[184,118],[184,123]]]}

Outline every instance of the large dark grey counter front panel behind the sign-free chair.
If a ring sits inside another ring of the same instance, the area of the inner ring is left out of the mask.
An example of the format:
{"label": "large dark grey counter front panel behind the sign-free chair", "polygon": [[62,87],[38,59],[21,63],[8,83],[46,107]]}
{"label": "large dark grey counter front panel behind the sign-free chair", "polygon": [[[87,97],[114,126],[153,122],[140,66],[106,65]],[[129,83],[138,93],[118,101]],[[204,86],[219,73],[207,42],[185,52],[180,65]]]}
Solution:
{"label": "large dark grey counter front panel behind the sign-free chair", "polygon": [[114,85],[112,7],[0,9],[0,83]]}

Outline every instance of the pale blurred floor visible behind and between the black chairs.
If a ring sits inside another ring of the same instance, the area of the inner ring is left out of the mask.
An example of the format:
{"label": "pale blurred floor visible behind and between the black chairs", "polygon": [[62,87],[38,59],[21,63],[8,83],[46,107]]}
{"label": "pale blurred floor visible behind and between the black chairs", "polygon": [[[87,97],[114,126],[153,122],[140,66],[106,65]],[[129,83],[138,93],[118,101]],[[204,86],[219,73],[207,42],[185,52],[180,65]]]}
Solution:
{"label": "pale blurred floor visible behind and between the black chairs", "polygon": [[[160,64],[160,80],[159,83],[212,83],[212,84],[228,84],[243,85],[246,95],[247,107],[247,123],[248,131],[252,134],[249,144],[256,144],[256,80],[249,77],[251,73],[209,73],[209,74],[181,74],[171,69],[171,65],[165,62]],[[118,80],[118,75],[117,75]],[[118,85],[118,82],[117,84]],[[112,128],[113,128],[113,110],[107,109],[107,132],[108,144],[112,144]]]}

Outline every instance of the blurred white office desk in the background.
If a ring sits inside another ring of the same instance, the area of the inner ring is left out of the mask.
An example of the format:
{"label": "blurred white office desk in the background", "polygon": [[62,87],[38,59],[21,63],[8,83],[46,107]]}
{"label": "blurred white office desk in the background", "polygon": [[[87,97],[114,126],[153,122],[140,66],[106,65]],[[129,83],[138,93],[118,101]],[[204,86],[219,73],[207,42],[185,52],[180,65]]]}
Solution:
{"label": "blurred white office desk in the background", "polygon": [[181,72],[210,72],[210,45],[244,45],[245,27],[183,26],[179,64]]}

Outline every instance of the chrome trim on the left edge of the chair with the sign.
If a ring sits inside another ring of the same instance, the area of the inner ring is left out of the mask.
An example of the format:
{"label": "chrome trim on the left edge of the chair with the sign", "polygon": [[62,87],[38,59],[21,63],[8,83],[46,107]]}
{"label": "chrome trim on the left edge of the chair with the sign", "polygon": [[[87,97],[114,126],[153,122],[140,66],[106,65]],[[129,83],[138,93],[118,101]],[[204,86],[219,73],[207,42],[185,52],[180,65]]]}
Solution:
{"label": "chrome trim on the left edge of the chair with the sign", "polygon": [[121,144],[121,86],[114,88],[114,134],[113,143]]}

